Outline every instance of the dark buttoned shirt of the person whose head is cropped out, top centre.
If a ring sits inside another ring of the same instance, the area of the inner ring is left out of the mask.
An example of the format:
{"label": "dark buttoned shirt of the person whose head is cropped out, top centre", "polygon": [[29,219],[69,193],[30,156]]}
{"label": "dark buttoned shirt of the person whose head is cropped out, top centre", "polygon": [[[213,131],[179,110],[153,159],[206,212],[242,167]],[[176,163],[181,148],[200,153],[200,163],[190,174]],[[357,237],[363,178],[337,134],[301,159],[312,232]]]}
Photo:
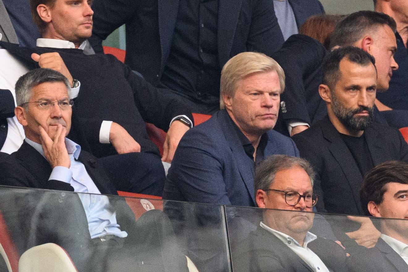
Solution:
{"label": "dark buttoned shirt of the person whose head is cropped out, top centre", "polygon": [[169,59],[159,87],[219,104],[218,0],[180,0]]}

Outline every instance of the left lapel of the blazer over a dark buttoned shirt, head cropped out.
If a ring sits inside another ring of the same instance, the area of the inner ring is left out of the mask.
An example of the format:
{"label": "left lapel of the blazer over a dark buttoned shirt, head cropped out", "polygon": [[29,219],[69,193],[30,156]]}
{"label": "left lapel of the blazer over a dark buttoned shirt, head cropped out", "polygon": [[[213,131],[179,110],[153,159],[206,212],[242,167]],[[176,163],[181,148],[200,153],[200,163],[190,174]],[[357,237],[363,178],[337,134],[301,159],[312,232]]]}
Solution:
{"label": "left lapel of the blazer over a dark buttoned shirt, head cropped out", "polygon": [[179,0],[159,0],[158,2],[160,47],[162,52],[161,69],[163,69],[170,52],[178,7]]}

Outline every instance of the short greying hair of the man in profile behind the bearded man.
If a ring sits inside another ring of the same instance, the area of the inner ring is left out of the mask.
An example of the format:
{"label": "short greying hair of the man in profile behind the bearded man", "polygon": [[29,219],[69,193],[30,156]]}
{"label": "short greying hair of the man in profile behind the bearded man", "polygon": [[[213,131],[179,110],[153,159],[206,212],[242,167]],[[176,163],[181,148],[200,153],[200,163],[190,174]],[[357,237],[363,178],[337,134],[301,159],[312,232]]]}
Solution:
{"label": "short greying hair of the man in profile behind the bearded man", "polygon": [[397,31],[395,20],[377,11],[357,11],[341,20],[330,36],[330,48],[352,46],[365,35],[374,35],[379,27],[388,26]]}

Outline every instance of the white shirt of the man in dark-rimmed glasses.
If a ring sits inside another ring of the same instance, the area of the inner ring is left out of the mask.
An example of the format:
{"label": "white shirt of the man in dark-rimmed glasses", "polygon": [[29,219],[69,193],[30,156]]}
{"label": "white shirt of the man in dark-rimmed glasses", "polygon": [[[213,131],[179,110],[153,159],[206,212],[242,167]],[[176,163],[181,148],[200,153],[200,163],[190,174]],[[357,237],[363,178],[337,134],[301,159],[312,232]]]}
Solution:
{"label": "white shirt of the man in dark-rimmed glasses", "polygon": [[[292,237],[277,230],[273,230],[266,226],[264,222],[259,224],[269,233],[275,235],[277,239],[281,240],[290,250],[293,250],[307,265],[310,266],[315,272],[329,272],[330,270],[326,267],[323,261],[307,247],[308,243],[317,239],[317,236],[311,232],[306,233],[305,240],[303,242],[303,247]],[[331,271],[330,271],[331,272]]]}

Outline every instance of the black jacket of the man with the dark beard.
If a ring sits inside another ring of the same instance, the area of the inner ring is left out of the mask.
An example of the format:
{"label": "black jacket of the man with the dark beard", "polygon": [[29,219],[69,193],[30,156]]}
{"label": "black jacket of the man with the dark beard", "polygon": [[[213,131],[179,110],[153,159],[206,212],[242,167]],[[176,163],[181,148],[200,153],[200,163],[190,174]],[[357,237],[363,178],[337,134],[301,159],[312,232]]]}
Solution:
{"label": "black jacket of the man with the dark beard", "polygon": [[[408,145],[396,128],[373,123],[364,135],[375,166],[390,160],[408,161]],[[313,186],[319,195],[317,211],[364,215],[359,195],[361,172],[328,116],[293,140],[317,173]]]}

